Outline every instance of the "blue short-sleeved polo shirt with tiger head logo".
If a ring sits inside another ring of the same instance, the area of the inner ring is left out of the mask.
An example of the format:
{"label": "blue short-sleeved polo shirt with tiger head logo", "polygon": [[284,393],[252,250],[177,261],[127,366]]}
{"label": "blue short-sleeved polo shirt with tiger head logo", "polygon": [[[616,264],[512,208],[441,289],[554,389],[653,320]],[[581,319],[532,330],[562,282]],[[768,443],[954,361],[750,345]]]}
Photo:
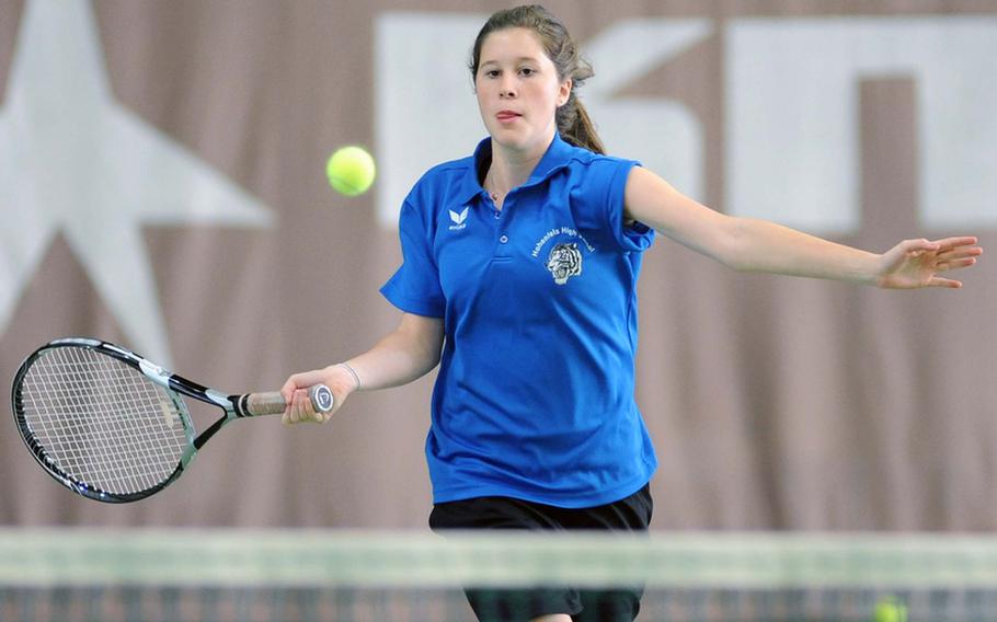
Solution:
{"label": "blue short-sleeved polo shirt with tiger head logo", "polygon": [[637,163],[555,136],[495,209],[491,141],[429,170],[402,205],[403,264],[381,288],[443,318],[426,458],[435,503],[508,496],[592,507],[657,461],[634,403],[637,278],[653,230],[624,228]]}

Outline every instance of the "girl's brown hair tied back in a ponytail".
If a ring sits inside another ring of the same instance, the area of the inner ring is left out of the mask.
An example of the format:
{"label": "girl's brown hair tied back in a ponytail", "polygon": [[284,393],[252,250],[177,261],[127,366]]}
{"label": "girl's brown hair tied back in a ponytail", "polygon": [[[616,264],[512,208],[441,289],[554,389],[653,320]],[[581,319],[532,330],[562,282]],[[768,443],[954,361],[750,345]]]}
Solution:
{"label": "girl's brown hair tied back in a ponytail", "polygon": [[481,27],[481,32],[478,33],[478,38],[474,39],[474,49],[468,66],[471,77],[477,78],[478,76],[481,46],[484,44],[484,39],[490,34],[506,28],[528,28],[537,33],[543,50],[558,70],[558,78],[561,81],[571,79],[571,95],[568,97],[568,102],[558,108],[555,117],[561,138],[575,147],[605,153],[606,149],[596,134],[588,112],[575,95],[575,90],[595,72],[592,70],[592,65],[578,54],[578,47],[564,24],[543,7],[539,4],[516,7],[499,11],[489,18],[489,21]]}

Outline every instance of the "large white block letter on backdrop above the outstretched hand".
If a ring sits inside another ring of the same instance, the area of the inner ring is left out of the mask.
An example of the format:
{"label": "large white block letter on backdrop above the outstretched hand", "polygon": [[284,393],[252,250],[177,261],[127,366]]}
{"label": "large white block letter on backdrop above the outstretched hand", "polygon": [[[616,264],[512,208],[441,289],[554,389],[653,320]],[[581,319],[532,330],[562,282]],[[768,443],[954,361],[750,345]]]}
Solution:
{"label": "large white block letter on backdrop above the outstretched hand", "polygon": [[726,211],[860,224],[859,85],[915,81],[919,219],[997,223],[997,20],[738,20],[726,33]]}

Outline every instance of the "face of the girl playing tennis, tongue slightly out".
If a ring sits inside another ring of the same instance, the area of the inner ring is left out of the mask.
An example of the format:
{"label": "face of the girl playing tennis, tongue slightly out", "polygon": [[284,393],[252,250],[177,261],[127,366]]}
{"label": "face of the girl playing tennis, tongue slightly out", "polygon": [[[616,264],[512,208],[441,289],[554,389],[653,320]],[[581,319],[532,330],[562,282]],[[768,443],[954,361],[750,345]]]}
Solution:
{"label": "face of the girl playing tennis, tongue slightly out", "polygon": [[554,114],[571,94],[571,80],[558,78],[540,39],[528,28],[488,35],[474,85],[492,140],[527,153],[547,149],[557,131]]}

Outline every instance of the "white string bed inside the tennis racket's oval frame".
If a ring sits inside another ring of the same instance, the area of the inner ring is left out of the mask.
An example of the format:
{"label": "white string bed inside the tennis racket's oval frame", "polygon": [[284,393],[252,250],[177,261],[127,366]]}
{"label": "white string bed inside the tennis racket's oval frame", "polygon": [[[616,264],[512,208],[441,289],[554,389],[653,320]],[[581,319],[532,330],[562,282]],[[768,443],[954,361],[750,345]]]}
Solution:
{"label": "white string bed inside the tennis racket's oval frame", "polygon": [[22,403],[44,460],[107,493],[167,481],[187,445],[182,405],[140,371],[89,348],[42,354],[22,382]]}

